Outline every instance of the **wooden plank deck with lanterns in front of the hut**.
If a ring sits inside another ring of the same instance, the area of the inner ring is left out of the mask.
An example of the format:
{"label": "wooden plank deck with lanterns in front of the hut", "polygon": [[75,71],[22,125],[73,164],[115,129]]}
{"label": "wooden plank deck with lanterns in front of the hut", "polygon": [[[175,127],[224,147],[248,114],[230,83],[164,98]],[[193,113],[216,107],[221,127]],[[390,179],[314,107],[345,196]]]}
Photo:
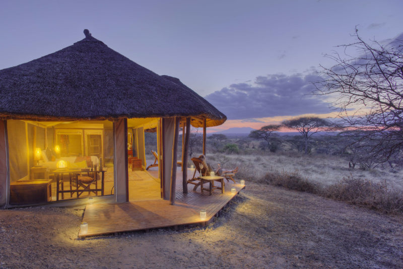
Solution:
{"label": "wooden plank deck with lanterns in front of the hut", "polygon": [[[186,224],[205,224],[245,186],[231,181],[226,182],[225,193],[215,189],[212,195],[209,195],[209,191],[200,193],[200,187],[193,191],[193,187],[194,185],[188,184],[188,193],[184,194],[179,176],[173,206],[169,205],[169,200],[163,199],[87,205],[83,222],[88,223],[88,231],[84,234],[80,230],[79,237]],[[236,193],[231,193],[232,187],[236,188]],[[207,213],[207,217],[203,220],[200,219],[202,209],[205,209]]]}

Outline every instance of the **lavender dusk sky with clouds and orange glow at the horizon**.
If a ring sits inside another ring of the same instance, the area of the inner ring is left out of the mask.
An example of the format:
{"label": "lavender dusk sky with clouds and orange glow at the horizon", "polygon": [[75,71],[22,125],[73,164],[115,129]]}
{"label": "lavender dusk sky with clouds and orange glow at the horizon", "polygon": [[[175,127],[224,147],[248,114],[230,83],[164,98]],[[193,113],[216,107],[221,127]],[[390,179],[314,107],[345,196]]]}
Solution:
{"label": "lavender dusk sky with clouds and orange glow at the horizon", "polygon": [[[159,75],[179,78],[228,120],[210,131],[332,116],[311,92],[336,45],[402,32],[403,1],[8,1],[0,70],[84,38],[83,30]],[[385,41],[386,42],[386,41]]]}

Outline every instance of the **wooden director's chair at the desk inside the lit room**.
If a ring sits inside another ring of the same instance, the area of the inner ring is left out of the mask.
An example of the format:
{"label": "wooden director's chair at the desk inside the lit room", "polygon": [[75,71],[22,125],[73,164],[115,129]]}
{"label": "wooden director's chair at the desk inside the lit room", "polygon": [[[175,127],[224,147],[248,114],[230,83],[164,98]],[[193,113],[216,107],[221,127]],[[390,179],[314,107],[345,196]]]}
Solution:
{"label": "wooden director's chair at the desk inside the lit room", "polygon": [[[95,170],[93,171],[90,171],[90,169],[85,169],[84,171],[82,171],[81,175],[79,173],[70,173],[70,197],[73,197],[73,193],[76,192],[78,198],[85,191],[88,191],[88,193],[94,192],[95,195],[98,195],[97,174],[98,171],[96,166]],[[95,184],[95,189],[91,189],[92,184]],[[73,187],[76,187],[76,189],[73,190]],[[83,189],[80,189],[80,187],[82,187]]]}

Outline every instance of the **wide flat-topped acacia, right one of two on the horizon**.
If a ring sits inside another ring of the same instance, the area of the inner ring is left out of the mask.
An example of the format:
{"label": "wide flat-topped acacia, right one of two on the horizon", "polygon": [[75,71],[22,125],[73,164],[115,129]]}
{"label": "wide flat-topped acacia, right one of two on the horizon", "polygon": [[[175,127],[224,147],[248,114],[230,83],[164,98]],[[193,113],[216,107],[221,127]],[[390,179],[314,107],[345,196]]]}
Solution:
{"label": "wide flat-topped acacia, right one of two on the horizon", "polygon": [[335,129],[329,120],[318,117],[299,117],[284,120],[282,125],[286,128],[297,130],[302,134],[305,143],[305,154],[308,154],[308,141],[314,133]]}

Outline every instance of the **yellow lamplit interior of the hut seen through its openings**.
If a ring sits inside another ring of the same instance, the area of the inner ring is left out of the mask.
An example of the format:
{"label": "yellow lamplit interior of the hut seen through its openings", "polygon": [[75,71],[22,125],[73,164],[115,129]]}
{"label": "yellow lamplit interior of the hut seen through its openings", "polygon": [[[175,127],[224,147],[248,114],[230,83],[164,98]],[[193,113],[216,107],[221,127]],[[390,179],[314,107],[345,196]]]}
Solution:
{"label": "yellow lamplit interior of the hut seen through its openings", "polygon": [[[146,171],[144,144],[144,131],[156,130],[158,122],[158,118],[127,121],[130,200],[161,198],[158,167],[151,174]],[[7,123],[11,205],[114,193],[112,121]]]}

